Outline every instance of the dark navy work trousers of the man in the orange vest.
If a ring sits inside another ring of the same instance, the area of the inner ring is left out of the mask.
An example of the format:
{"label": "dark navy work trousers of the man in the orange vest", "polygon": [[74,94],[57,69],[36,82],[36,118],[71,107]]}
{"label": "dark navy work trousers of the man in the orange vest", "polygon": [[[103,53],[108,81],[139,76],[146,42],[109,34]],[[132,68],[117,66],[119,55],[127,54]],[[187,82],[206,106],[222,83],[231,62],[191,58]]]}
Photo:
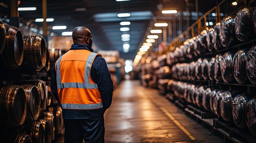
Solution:
{"label": "dark navy work trousers of the man in the orange vest", "polygon": [[104,117],[95,119],[64,119],[64,143],[104,143]]}

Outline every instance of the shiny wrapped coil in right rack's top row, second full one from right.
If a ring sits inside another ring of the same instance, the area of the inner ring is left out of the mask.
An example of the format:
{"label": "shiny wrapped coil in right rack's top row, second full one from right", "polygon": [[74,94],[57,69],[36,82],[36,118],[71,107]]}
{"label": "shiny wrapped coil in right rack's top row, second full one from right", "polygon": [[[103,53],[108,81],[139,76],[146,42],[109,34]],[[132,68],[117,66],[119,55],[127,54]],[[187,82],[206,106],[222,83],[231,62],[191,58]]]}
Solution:
{"label": "shiny wrapped coil in right rack's top row, second full one from right", "polygon": [[234,32],[235,16],[227,16],[223,18],[220,24],[220,43],[224,47],[229,47],[236,41]]}

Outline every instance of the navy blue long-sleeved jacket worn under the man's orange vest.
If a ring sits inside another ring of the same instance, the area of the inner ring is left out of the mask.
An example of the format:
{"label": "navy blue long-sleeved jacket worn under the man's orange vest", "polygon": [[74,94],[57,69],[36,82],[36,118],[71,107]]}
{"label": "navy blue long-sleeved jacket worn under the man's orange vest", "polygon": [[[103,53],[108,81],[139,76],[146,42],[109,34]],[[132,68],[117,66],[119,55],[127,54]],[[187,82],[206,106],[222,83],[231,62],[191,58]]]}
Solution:
{"label": "navy blue long-sleeved jacket worn under the man's orange vest", "polygon": [[[70,50],[80,50],[85,49],[93,52],[93,49],[85,44],[73,44]],[[63,109],[63,119],[92,119],[101,116],[104,114],[106,109],[108,109],[112,103],[112,95],[113,95],[113,82],[110,77],[110,73],[106,64],[106,61],[103,57],[97,56],[92,63],[91,68],[91,78],[97,83],[99,91],[101,93],[101,99],[103,103],[103,108],[93,109],[93,110],[71,110],[71,109]],[[52,79],[51,79],[51,90],[58,101],[58,93],[57,93],[57,82],[56,82],[56,71],[55,71],[55,63],[52,67]]]}

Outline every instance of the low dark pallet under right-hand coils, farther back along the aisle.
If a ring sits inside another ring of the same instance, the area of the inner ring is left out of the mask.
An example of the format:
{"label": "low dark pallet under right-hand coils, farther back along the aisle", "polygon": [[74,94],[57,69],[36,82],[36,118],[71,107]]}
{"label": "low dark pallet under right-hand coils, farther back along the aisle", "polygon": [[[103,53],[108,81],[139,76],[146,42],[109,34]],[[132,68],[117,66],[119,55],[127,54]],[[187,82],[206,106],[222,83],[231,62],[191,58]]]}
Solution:
{"label": "low dark pallet under right-hand coils, farther back along the aisle", "polygon": [[196,123],[202,125],[203,128],[208,129],[212,132],[213,130],[213,119],[204,119],[200,115],[195,114],[194,111],[189,110],[189,108],[185,108],[184,112],[187,116],[193,119]]}

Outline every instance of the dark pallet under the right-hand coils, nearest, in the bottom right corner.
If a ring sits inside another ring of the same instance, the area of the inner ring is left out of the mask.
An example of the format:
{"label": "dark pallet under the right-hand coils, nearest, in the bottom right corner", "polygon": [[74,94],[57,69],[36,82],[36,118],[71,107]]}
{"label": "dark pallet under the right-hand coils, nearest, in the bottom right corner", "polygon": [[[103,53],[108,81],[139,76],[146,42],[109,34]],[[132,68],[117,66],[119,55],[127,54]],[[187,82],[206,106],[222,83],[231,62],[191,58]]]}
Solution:
{"label": "dark pallet under the right-hand coils, nearest, in the bottom right corner", "polygon": [[213,120],[214,136],[219,136],[225,143],[256,143],[256,137],[247,128],[238,128],[225,121]]}

